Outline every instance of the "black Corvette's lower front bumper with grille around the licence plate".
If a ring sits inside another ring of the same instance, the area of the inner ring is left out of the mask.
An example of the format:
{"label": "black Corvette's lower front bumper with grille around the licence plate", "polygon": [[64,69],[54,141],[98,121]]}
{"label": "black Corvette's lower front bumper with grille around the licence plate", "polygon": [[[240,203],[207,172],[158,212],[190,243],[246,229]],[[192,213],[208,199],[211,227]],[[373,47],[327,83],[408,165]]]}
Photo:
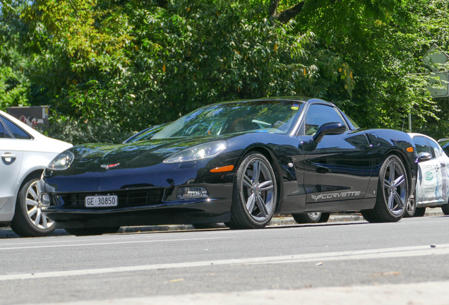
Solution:
{"label": "black Corvette's lower front bumper with grille around the licence plate", "polygon": [[[40,184],[42,186],[42,183]],[[49,205],[43,213],[59,228],[116,227],[136,225],[181,225],[228,222],[232,184],[198,184],[209,198],[176,200],[177,187],[126,189],[106,192],[44,193]],[[117,195],[118,205],[86,208],[85,196]]]}

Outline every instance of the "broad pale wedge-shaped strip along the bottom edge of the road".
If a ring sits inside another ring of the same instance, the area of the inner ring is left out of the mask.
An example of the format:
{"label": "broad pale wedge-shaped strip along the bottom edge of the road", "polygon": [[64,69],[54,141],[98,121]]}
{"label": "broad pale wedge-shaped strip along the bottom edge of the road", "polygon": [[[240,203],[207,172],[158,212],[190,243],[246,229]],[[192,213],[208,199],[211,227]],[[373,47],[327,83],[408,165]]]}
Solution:
{"label": "broad pale wedge-shaped strip along the bottom edge of the road", "polygon": [[[449,281],[297,290],[265,289],[52,303],[64,305],[447,305]],[[30,305],[30,304],[28,304]],[[50,305],[50,304],[49,304]]]}

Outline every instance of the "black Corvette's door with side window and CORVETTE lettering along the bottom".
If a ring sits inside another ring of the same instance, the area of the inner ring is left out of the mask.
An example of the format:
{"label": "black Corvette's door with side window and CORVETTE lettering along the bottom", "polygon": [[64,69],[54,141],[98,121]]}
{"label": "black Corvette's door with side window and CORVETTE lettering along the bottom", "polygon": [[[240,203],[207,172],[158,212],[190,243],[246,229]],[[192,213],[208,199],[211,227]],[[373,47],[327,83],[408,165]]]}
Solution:
{"label": "black Corvette's door with side window and CORVETTE lettering along the bottom", "polygon": [[[347,126],[335,107],[311,104],[299,128],[300,137],[311,139],[320,126],[333,122]],[[320,206],[329,208],[330,201],[364,198],[371,176],[371,155],[368,139],[362,131],[350,131],[347,127],[340,135],[324,136],[313,150],[306,145],[303,150],[304,159],[296,166],[298,174],[304,172],[304,179],[298,181],[304,185],[306,210],[321,210],[316,209]],[[339,207],[330,210],[340,210]]]}

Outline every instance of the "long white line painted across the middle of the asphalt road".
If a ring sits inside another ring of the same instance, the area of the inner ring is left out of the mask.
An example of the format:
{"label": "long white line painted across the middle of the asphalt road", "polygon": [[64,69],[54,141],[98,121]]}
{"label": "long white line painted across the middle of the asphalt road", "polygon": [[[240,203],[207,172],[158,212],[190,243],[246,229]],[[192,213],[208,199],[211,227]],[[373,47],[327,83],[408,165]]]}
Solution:
{"label": "long white line painted across the middle of the asphalt road", "polygon": [[[185,240],[185,239],[184,239]],[[186,263],[164,263],[155,265],[137,265],[114,268],[98,268],[83,270],[52,271],[47,273],[24,273],[12,275],[0,275],[0,281],[4,280],[30,280],[46,277],[66,277],[75,275],[97,275],[106,273],[136,272],[157,269],[205,267],[211,265],[253,265],[266,263],[306,263],[316,261],[351,261],[375,258],[395,258],[409,256],[434,256],[449,255],[449,244],[431,246],[409,246],[388,249],[372,249],[361,251],[344,251],[330,253],[298,254],[291,256],[267,256],[261,258],[239,258],[220,261],[199,261]]]}

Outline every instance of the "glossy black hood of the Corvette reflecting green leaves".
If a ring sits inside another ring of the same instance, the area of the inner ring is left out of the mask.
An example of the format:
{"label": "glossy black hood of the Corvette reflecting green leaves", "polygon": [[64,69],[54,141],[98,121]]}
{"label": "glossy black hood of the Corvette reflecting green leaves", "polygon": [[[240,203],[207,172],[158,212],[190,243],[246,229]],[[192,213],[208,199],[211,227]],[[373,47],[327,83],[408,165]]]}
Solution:
{"label": "glossy black hood of the Corvette reflecting green leaves", "polygon": [[128,144],[78,145],[70,149],[75,155],[71,169],[97,171],[101,170],[101,165],[116,165],[114,168],[117,169],[150,167],[191,146],[225,138],[229,137],[169,138]]}

